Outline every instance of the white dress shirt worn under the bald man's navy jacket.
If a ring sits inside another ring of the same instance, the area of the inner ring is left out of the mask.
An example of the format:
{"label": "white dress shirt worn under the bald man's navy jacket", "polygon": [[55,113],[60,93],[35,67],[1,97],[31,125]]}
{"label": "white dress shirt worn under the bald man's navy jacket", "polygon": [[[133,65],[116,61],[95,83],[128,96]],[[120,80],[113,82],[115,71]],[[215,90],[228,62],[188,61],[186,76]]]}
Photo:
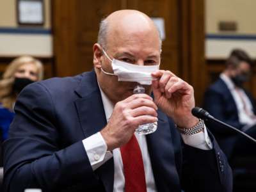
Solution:
{"label": "white dress shirt worn under the bald man's navy jacket", "polygon": [[[111,103],[111,101],[108,99],[108,97],[106,97],[106,94],[102,92],[101,89],[100,89],[100,94],[102,97],[102,102],[103,102],[103,106],[106,114],[106,120],[108,121],[113,112],[114,106]],[[143,157],[147,192],[157,191],[154,175],[152,172],[151,161],[148,154],[146,137],[143,134],[135,134],[135,136],[140,145],[141,154]],[[186,136],[182,134],[182,139],[184,140],[184,143],[186,143],[187,145],[191,145],[192,147],[201,148],[203,150],[210,150],[212,148],[212,143],[211,143],[211,140],[209,139],[206,128],[204,129],[204,132],[199,132],[191,136]],[[97,168],[99,168],[99,166],[104,164],[111,157],[114,158],[115,171],[114,171],[113,191],[115,192],[124,191],[125,178],[124,178],[124,169],[123,169],[120,148],[115,148],[113,150],[113,154],[107,151],[106,142],[104,141],[104,138],[102,137],[100,132],[97,132],[96,134],[93,134],[92,136],[84,139],[83,145],[93,170],[96,170]]]}

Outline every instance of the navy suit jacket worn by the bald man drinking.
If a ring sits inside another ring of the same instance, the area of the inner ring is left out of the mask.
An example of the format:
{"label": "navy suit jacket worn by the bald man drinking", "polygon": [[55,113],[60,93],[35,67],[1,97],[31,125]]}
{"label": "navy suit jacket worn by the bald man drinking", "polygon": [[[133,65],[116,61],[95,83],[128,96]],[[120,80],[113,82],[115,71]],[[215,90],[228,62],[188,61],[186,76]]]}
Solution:
{"label": "navy suit jacket worn by the bald man drinking", "polygon": [[[6,191],[113,191],[113,158],[93,172],[82,143],[106,125],[95,72],[27,86],[15,113],[4,143]],[[172,120],[161,111],[158,118],[147,135],[158,191],[232,191],[230,166],[213,138],[212,150],[182,147]]]}

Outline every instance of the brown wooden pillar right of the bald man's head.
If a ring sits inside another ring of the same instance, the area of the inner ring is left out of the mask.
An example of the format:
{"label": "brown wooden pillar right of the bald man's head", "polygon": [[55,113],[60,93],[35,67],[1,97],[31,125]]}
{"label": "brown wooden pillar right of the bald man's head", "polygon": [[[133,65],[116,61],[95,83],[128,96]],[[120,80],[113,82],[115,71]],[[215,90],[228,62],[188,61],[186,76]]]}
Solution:
{"label": "brown wooden pillar right of the bald man's head", "polygon": [[205,91],[205,12],[204,0],[182,0],[179,11],[180,77],[195,90],[196,105],[202,103]]}

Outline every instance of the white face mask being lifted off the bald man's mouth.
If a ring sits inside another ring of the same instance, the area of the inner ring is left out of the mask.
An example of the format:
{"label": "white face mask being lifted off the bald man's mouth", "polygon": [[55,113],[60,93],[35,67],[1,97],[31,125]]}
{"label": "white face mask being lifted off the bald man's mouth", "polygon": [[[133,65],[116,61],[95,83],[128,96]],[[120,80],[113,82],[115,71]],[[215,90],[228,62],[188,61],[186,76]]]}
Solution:
{"label": "white face mask being lifted off the bald man's mouth", "polygon": [[151,74],[152,72],[159,70],[159,65],[141,66],[120,60],[111,60],[104,50],[103,52],[112,63],[114,74],[106,72],[102,68],[100,68],[100,70],[104,72],[104,74],[118,76],[118,81],[131,81],[140,84],[152,84],[152,80],[154,80],[154,78],[151,76]]}

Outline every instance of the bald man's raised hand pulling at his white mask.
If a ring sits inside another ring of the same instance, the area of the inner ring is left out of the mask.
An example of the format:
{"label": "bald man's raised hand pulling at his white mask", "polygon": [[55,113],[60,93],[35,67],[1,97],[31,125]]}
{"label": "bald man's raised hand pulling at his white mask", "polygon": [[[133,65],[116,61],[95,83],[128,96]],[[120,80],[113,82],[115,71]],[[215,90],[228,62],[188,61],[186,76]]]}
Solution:
{"label": "bald man's raised hand pulling at his white mask", "polygon": [[168,70],[158,70],[152,76],[157,79],[152,82],[157,106],[179,127],[195,126],[198,118],[191,114],[195,107],[193,87]]}

